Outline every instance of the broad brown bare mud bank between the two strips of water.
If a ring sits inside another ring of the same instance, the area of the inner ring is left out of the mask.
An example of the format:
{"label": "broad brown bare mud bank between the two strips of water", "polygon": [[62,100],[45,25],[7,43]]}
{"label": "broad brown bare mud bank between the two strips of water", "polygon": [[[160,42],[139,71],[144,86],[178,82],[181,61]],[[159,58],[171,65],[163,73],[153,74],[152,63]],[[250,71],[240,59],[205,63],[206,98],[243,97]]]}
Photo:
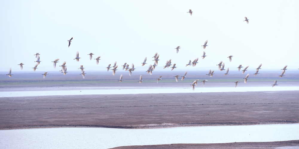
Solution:
{"label": "broad brown bare mud bank between the two strips of water", "polygon": [[299,91],[0,98],[0,129],[299,122]]}

